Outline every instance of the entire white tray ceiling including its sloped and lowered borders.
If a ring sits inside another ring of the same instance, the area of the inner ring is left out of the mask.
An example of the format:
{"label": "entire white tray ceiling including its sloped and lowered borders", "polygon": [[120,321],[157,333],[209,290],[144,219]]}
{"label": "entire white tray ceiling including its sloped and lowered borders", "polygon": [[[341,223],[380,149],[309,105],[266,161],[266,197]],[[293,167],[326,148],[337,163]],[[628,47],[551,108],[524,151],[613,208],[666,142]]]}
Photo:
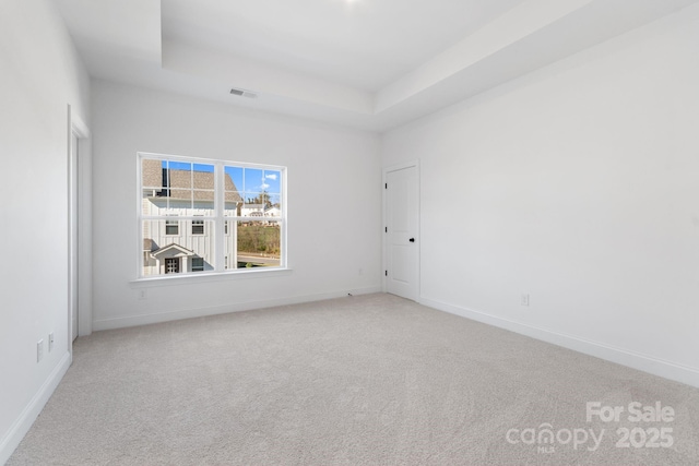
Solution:
{"label": "entire white tray ceiling including its sloped and lowered borders", "polygon": [[95,77],[384,131],[696,1],[56,3]]}

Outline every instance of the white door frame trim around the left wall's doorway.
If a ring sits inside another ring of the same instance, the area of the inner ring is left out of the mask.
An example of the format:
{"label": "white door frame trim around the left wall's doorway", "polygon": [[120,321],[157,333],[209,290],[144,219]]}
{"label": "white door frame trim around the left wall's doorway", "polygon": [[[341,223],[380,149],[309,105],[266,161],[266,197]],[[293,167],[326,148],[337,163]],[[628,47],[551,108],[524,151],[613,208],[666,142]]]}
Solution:
{"label": "white door frame trim around the left wall's doorway", "polygon": [[[73,159],[73,134],[78,139],[78,158]],[[73,178],[73,164],[76,164]],[[84,120],[68,105],[68,350],[73,354],[75,336],[92,333],[92,133]],[[73,211],[73,201],[78,202]],[[76,225],[73,218],[76,216]],[[76,239],[76,251],[73,240]],[[73,275],[71,255],[78,253],[76,274]],[[78,294],[73,296],[73,279]],[[78,304],[78,335],[73,335],[72,306]]]}

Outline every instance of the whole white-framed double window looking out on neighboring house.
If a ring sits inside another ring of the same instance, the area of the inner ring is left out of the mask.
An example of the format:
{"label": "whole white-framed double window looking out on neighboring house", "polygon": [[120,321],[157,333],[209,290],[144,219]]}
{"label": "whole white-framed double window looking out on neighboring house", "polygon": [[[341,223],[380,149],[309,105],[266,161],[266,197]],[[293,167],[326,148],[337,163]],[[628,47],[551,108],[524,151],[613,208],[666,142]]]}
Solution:
{"label": "whole white-framed double window looking out on neighboring house", "polygon": [[139,169],[140,277],[286,266],[284,167],[139,154]]}

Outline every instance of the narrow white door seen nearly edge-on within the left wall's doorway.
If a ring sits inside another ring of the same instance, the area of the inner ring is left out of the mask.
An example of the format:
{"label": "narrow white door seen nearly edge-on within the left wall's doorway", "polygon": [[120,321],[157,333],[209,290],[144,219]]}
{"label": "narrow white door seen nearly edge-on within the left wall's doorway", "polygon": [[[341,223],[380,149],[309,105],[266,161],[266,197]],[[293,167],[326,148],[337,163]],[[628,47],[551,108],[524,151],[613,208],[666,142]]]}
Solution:
{"label": "narrow white door seen nearly edge-on within the left wall's doorway", "polygon": [[70,309],[71,342],[78,338],[78,135],[71,132],[68,163],[68,306]]}

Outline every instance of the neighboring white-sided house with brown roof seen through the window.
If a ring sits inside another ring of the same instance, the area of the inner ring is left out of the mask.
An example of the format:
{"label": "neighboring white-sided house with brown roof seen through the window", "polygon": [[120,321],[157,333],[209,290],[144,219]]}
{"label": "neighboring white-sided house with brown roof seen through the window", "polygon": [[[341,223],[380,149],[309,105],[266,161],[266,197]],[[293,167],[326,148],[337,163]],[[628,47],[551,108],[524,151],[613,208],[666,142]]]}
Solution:
{"label": "neighboring white-sided house with brown roof seen through the window", "polygon": [[[171,217],[143,222],[142,274],[213,271],[213,166],[170,163],[165,167],[166,164],[158,159],[142,160],[142,215]],[[226,175],[224,208],[237,215],[241,205],[242,198]],[[224,226],[224,268],[237,266],[236,227],[236,222],[226,222]]]}

